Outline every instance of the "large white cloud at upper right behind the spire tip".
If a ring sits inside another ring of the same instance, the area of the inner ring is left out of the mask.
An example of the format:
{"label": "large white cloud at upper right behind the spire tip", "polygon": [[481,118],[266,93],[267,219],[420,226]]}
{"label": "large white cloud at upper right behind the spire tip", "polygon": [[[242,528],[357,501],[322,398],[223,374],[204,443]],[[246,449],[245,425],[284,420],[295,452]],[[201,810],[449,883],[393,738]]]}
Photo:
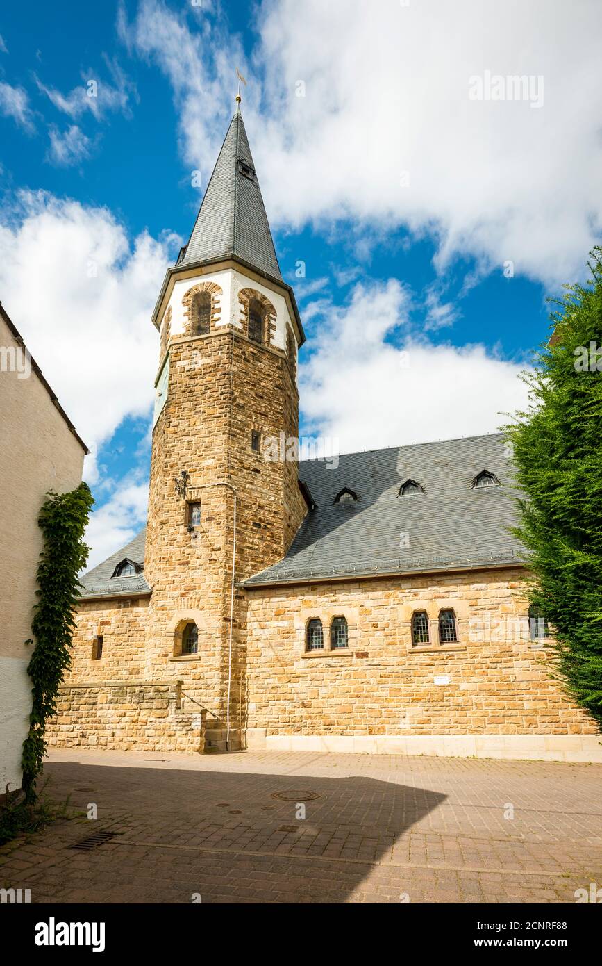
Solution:
{"label": "large white cloud at upper right behind the spire tip", "polygon": [[[221,20],[199,18],[193,32],[159,0],[142,0],[122,35],[169,77],[183,156],[205,173],[239,62],[275,223],[404,225],[437,240],[442,272],[461,253],[551,283],[583,270],[602,231],[602,6],[577,9],[266,0],[251,65]],[[541,75],[543,105],[471,100],[470,78],[485,71]]]}

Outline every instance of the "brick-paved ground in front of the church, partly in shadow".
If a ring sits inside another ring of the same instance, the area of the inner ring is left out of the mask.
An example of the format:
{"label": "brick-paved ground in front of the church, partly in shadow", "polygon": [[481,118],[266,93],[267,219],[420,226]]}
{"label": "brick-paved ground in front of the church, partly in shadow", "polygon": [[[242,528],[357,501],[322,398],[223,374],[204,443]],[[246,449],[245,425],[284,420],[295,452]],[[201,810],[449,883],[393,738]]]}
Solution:
{"label": "brick-paved ground in front of the church, partly in shadow", "polygon": [[[45,776],[98,818],[0,848],[1,885],[32,902],[574,902],[602,885],[600,765],[62,750]],[[116,835],[72,848],[99,830]]]}

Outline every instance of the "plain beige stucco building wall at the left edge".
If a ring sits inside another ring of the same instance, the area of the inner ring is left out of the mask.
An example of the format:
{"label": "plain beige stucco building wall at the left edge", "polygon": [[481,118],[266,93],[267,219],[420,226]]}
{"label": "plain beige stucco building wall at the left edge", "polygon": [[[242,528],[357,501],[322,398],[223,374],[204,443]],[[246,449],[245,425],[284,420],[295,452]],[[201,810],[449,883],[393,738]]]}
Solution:
{"label": "plain beige stucco building wall at the left edge", "polygon": [[0,795],[21,785],[29,725],[38,514],[48,490],[81,481],[84,443],[0,306]]}

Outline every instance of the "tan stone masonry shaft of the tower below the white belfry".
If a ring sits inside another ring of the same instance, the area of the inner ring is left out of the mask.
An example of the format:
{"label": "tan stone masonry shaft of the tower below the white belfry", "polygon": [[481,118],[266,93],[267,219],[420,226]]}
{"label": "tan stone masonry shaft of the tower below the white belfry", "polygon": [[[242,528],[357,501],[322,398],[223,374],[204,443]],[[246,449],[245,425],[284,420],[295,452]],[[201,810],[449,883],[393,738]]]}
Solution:
{"label": "tan stone masonry shaft of the tower below the white belfry", "polygon": [[[226,723],[236,489],[236,581],[279,560],[306,512],[294,463],[270,463],[251,446],[297,435],[298,396],[284,352],[257,346],[232,329],[170,343],[167,403],[153,433],[145,574],[152,586],[143,677],[182,680],[182,705],[203,707],[208,726]],[[200,501],[201,525],[190,532],[175,478],[189,474],[186,499]],[[245,704],[244,595],[233,622],[231,725]],[[177,653],[178,627],[194,620],[199,652]],[[170,668],[172,668],[170,670]]]}

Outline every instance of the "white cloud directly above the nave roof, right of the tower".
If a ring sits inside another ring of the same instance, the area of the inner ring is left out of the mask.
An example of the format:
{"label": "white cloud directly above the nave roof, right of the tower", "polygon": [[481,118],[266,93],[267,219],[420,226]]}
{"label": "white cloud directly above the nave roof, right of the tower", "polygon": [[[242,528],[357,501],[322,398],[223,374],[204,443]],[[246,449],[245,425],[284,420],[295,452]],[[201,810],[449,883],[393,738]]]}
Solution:
{"label": "white cloud directly above the nave roof, right of the tower", "polygon": [[321,305],[329,325],[308,344],[301,403],[310,431],[339,440],[341,452],[494,433],[501,412],[525,408],[524,366],[480,345],[412,336],[409,307],[395,279],[356,285],[345,306]]}

